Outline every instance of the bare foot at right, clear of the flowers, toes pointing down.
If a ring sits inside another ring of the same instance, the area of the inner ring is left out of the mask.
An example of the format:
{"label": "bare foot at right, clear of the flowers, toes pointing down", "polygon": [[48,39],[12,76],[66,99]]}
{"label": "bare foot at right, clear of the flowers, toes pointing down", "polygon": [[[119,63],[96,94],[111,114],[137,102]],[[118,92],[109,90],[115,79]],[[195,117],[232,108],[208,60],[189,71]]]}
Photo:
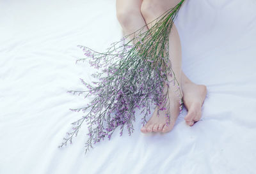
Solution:
{"label": "bare foot at right, clear of the flowers, toes pointing down", "polygon": [[202,117],[202,105],[206,96],[206,86],[196,85],[186,75],[182,75],[183,102],[188,109],[186,124],[193,126]]}

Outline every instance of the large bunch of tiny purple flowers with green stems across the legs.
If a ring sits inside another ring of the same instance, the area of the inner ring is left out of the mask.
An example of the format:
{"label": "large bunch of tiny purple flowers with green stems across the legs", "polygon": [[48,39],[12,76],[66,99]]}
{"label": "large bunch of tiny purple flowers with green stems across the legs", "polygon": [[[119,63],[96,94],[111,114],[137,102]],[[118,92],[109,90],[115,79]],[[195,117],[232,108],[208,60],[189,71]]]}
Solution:
{"label": "large bunch of tiny purple flowers with green stems across the legs", "polygon": [[[95,98],[83,108],[70,109],[86,114],[72,123],[73,131],[67,133],[67,138],[63,138],[64,141],[59,147],[67,145],[68,141],[72,143],[84,122],[88,124],[89,137],[85,153],[94,143],[106,137],[110,140],[117,127],[120,127],[120,136],[124,127],[131,135],[134,131],[132,122],[136,119],[136,108],[143,113],[141,120],[144,125],[150,114],[151,103],[157,106],[157,113],[159,110],[166,110],[168,124],[172,116],[168,95],[170,85],[175,87],[175,93],[180,98],[180,110],[182,109],[182,93],[169,58],[169,34],[183,1],[154,20],[156,23],[146,32],[143,29],[147,25],[112,43],[104,53],[78,46],[83,48],[86,58],[78,59],[77,62],[89,59],[90,64],[101,71],[92,75],[99,79],[93,85],[81,79],[88,90],[68,91],[71,94]],[[167,90],[164,88],[166,85]]]}

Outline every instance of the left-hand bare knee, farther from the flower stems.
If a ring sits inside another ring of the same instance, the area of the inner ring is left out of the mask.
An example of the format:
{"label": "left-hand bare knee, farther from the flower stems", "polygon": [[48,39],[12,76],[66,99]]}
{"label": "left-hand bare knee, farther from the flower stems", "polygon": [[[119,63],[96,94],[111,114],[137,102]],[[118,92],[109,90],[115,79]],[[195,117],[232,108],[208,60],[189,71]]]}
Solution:
{"label": "left-hand bare knee, farther from the flower stems", "polygon": [[130,27],[138,15],[140,15],[140,10],[132,8],[118,8],[116,10],[117,20],[122,27]]}

